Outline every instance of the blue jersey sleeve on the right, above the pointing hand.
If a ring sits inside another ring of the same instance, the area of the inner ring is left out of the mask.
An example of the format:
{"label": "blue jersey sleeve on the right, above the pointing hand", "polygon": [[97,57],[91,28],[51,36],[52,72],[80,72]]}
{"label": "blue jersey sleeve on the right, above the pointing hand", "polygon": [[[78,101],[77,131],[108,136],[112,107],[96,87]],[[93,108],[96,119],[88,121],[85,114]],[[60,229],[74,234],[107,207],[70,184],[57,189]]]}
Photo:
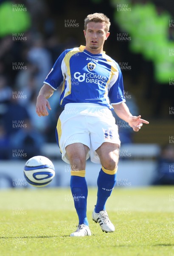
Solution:
{"label": "blue jersey sleeve on the right, above the pointing hand", "polygon": [[118,68],[118,79],[109,89],[109,93],[108,93],[110,104],[113,104],[113,105],[126,101],[124,96],[123,76],[118,64],[117,64],[117,68]]}

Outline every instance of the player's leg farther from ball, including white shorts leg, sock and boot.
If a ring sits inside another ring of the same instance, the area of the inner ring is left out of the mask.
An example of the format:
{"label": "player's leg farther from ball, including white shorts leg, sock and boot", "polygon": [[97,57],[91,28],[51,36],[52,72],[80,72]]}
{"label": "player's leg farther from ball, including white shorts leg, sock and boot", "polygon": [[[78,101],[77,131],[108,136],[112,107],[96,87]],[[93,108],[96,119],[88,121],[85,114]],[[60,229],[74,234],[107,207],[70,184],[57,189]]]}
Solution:
{"label": "player's leg farther from ball, including white shorts leg, sock and boot", "polygon": [[113,232],[114,225],[109,221],[105,204],[116,183],[116,172],[120,139],[118,126],[109,109],[98,108],[95,117],[90,120],[90,157],[94,163],[101,163],[98,175],[97,203],[93,211],[93,220],[98,222],[105,232]]}

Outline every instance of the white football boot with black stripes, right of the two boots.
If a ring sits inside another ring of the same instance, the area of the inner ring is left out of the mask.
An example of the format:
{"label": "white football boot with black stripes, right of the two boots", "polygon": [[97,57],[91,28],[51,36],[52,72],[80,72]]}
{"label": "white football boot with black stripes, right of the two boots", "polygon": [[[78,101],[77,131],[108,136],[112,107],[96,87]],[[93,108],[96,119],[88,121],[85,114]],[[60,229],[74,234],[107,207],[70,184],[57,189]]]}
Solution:
{"label": "white football boot with black stripes, right of the two boots", "polygon": [[95,223],[99,223],[100,227],[102,229],[103,232],[114,232],[115,231],[115,227],[114,225],[111,223],[111,221],[109,220],[109,217],[107,215],[107,211],[100,211],[99,213],[95,212],[95,209],[93,210],[93,221],[95,221]]}

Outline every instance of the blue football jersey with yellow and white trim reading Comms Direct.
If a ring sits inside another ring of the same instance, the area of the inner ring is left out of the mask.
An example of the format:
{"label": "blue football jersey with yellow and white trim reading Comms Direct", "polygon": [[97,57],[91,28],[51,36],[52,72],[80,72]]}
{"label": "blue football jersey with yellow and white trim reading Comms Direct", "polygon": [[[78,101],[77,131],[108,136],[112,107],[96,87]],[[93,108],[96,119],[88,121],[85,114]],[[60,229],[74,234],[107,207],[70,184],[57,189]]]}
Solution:
{"label": "blue football jersey with yellow and white trim reading Comms Direct", "polygon": [[125,102],[118,64],[105,52],[92,54],[84,48],[62,52],[44,81],[54,90],[62,85],[60,105],[95,103],[111,109],[111,104]]}

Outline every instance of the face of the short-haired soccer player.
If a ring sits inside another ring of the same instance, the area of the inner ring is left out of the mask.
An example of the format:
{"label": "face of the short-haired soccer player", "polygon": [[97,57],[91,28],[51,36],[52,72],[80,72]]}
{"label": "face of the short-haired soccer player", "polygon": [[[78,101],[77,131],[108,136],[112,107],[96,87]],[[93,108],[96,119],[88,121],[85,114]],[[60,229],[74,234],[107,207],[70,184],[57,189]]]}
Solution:
{"label": "face of the short-haired soccer player", "polygon": [[109,32],[106,33],[105,25],[101,22],[87,23],[87,29],[84,30],[86,39],[85,49],[93,54],[103,52],[104,41],[107,40]]}

